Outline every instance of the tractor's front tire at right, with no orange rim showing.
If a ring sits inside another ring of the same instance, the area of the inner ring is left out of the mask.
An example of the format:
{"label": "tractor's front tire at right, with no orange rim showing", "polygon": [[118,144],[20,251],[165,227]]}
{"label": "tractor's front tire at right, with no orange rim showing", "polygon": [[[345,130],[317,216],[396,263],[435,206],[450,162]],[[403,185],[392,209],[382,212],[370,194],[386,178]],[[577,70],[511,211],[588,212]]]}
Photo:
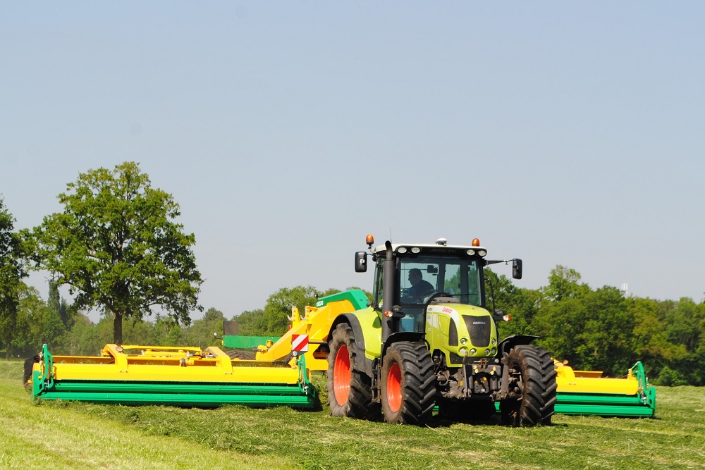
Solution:
{"label": "tractor's front tire at right, with no orange rim showing", "polygon": [[500,403],[503,423],[510,426],[550,424],[556,404],[556,371],[550,354],[541,347],[519,345],[509,352],[507,365],[520,398]]}

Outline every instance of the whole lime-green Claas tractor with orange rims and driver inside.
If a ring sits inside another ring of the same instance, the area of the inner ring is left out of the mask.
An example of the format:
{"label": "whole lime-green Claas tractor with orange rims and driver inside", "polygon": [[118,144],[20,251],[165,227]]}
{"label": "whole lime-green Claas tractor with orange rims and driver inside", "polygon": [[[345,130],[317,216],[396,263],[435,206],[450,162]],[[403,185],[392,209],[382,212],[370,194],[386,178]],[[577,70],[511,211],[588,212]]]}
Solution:
{"label": "whole lime-green Claas tractor with orange rims and driver inside", "polygon": [[469,246],[387,241],[355,253],[355,271],[374,263],[372,302],[339,314],[329,330],[328,401],[333,416],[422,425],[439,415],[510,426],[551,423],[556,371],[536,336],[499,340],[501,311],[485,294],[490,261],[479,240]]}

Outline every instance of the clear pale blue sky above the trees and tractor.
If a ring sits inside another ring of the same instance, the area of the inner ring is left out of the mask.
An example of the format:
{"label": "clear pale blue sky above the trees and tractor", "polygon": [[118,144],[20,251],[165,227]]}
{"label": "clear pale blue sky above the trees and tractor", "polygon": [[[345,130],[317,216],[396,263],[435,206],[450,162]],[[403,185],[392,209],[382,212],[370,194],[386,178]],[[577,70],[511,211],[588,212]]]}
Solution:
{"label": "clear pale blue sky above the trees and tractor", "polygon": [[704,24],[702,1],[3,0],[0,194],[30,228],[139,162],[228,317],[369,289],[367,233],[700,302]]}

